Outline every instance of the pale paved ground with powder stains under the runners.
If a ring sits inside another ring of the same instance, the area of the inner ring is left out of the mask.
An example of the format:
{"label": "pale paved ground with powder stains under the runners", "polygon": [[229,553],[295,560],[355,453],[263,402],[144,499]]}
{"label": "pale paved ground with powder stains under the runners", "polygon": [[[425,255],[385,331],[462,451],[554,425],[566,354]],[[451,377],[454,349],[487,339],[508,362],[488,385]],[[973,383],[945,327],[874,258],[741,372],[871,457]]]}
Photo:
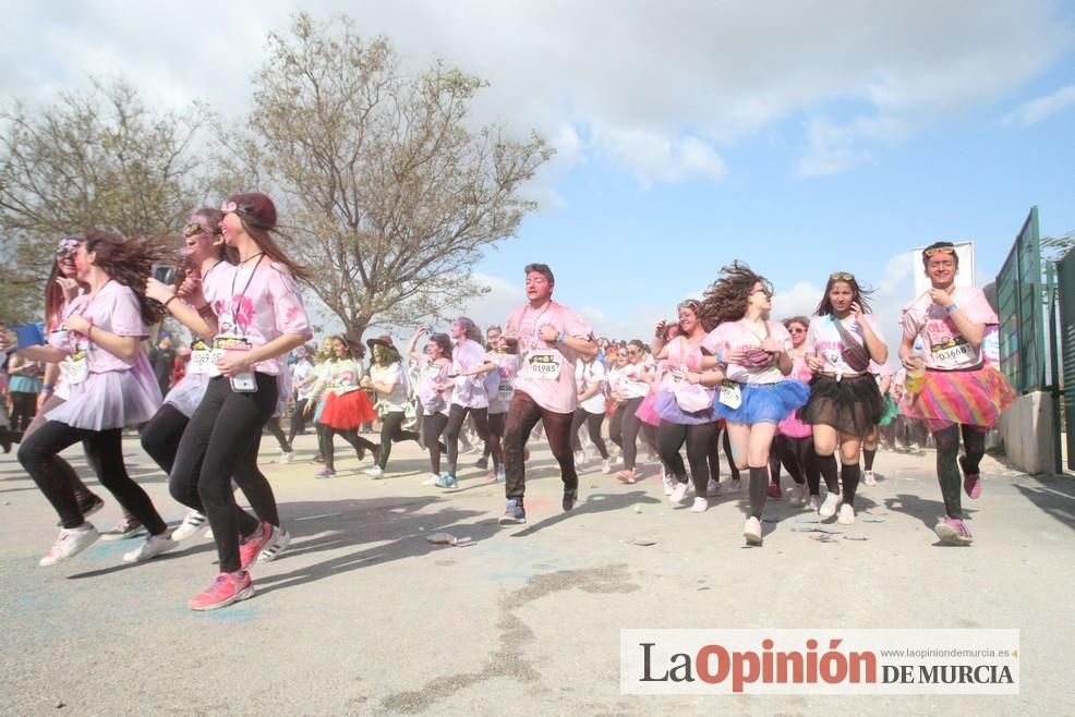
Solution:
{"label": "pale paved ground with powder stains under the runners", "polygon": [[[164,476],[128,446],[132,474],[179,521]],[[301,438],[300,460],[311,449]],[[56,517],[14,454],[0,455],[0,712],[1071,714],[1070,478],[987,459],[985,495],[967,501],[977,540],[944,547],[930,531],[941,513],[932,454],[881,453],[883,479],[859,505],[881,522],[842,531],[866,540],[818,543],[794,530],[811,525],[805,513],[771,501],[757,549],[740,537],[745,495],[694,514],[653,477],[621,486],[590,472],[567,517],[547,451],[532,463],[524,527],[496,524],[503,488],[476,469],[451,494],[421,486],[413,443],[381,481],[353,457],[333,481],[313,481],[311,463],[267,464],[295,542],[255,568],[255,598],[194,613],[186,599],[216,572],[210,542],[141,566],[120,561],[131,542],[98,543],[38,568]],[[104,530],[117,517],[109,501],[94,520]],[[440,531],[474,545],[431,545]],[[621,628],[762,627],[1018,628],[1024,686],[943,700],[619,693]]]}

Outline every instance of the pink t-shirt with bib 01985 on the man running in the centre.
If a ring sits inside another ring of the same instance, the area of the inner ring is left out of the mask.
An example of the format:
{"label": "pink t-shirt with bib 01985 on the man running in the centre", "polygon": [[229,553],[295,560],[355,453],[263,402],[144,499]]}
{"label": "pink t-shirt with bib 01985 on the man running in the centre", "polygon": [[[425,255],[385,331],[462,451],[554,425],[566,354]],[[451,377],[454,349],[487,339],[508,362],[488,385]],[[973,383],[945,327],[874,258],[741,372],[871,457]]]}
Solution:
{"label": "pink t-shirt with bib 01985 on the man running in the centre", "polygon": [[575,413],[579,394],[575,388],[575,363],[578,352],[563,343],[545,342],[539,336],[542,326],[576,339],[590,339],[593,330],[567,306],[551,301],[544,308],[521,306],[508,317],[505,330],[519,337],[522,364],[515,388],[554,413]]}

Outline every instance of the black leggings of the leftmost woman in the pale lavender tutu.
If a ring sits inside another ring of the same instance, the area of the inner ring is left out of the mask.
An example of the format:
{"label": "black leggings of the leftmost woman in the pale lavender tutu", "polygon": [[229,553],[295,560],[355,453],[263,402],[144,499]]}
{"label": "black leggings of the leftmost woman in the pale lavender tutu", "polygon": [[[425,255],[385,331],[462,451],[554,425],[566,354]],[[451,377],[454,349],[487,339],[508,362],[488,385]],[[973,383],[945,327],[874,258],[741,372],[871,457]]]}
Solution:
{"label": "black leggings of the leftmost woman in the pale lavender tutu", "polygon": [[19,446],[19,462],[52,503],[63,527],[78,527],[85,523],[71,482],[56,458],[57,453],[80,440],[89,463],[95,470],[97,466],[100,469],[97,474],[100,484],[116,496],[124,509],[142,521],[150,535],[164,533],[168,526],[153,507],[149,496],[126,473],[122,428],[85,430],[59,421],[47,421]]}

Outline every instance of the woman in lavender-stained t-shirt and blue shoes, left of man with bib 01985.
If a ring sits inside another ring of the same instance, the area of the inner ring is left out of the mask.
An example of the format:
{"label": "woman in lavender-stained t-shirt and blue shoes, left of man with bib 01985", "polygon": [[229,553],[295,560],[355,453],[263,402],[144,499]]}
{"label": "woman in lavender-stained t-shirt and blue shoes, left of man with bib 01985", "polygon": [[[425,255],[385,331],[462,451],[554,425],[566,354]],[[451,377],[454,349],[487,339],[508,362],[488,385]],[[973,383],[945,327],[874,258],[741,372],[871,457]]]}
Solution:
{"label": "woman in lavender-stained t-shirt and blue shoes, left of man with bib 01985", "polygon": [[[450,375],[455,381],[455,390],[448,409],[448,425],[444,429],[444,442],[448,448],[448,473],[434,484],[438,488],[459,487],[456,478],[459,432],[468,415],[474,423],[474,430],[482,446],[488,440],[488,392],[485,376],[496,372],[496,364],[488,360],[482,345],[482,332],[472,320],[460,316],[452,321],[451,339],[456,343],[451,350]],[[495,378],[499,378],[499,374],[495,374]]]}

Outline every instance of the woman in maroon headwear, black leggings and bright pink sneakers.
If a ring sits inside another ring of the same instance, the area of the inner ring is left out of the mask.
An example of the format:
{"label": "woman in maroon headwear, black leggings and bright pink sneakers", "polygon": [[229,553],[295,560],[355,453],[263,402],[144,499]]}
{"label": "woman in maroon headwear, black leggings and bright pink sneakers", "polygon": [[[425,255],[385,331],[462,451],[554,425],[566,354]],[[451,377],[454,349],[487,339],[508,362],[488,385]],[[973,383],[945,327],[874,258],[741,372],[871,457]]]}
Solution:
{"label": "woman in maroon headwear, black leggings and bright pink sneakers", "polygon": [[311,338],[295,282],[306,270],[274,239],[273,200],[261,193],[238,194],[220,210],[224,241],[238,252],[239,264],[195,288],[193,307],[166,299],[188,328],[215,337],[213,369],[219,374],[209,379],[191,416],[169,481],[176,500],[208,515],[217,542],[219,574],[190,600],[192,610],[252,597],[250,567],[282,538],[275,525],[235,506],[231,476],[243,462],[256,460],[262,429],[277,408],[278,376],[287,370],[288,352]]}

